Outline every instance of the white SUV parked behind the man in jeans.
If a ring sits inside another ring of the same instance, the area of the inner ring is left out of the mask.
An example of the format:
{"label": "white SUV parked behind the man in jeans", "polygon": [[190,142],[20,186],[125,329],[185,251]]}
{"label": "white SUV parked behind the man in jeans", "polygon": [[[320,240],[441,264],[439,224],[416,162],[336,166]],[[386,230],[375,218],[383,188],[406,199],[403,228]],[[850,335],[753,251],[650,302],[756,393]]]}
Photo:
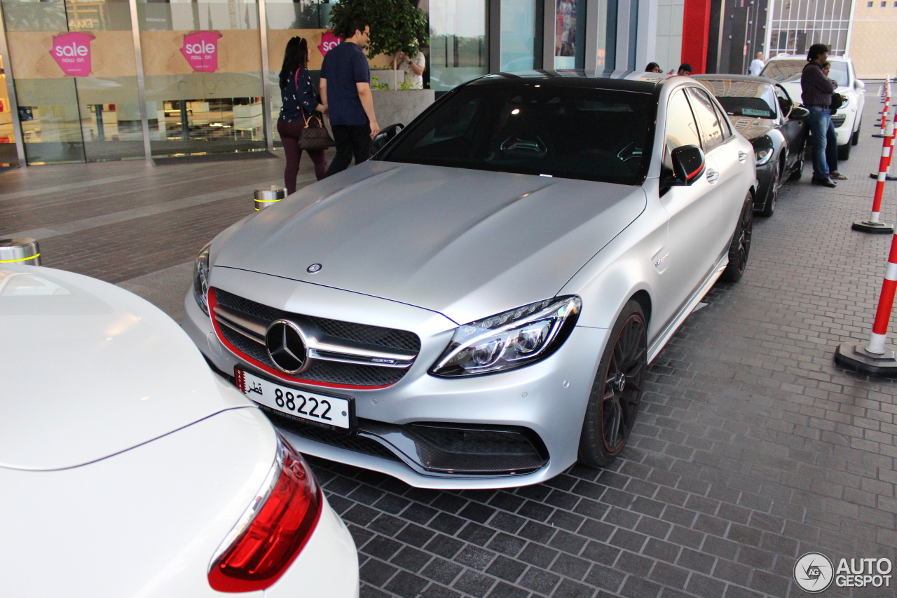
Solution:
{"label": "white SUV parked behind the man in jeans", "polygon": [[[838,159],[847,160],[850,146],[859,143],[859,127],[863,118],[864,90],[866,84],[857,78],[857,71],[849,57],[830,56],[832,71],[829,76],[838,84],[837,92],[847,100],[832,114],[832,123],[838,135]],[[800,101],[800,75],[806,59],[790,54],[779,54],[766,63],[761,76],[770,77],[788,90],[792,100]]]}

